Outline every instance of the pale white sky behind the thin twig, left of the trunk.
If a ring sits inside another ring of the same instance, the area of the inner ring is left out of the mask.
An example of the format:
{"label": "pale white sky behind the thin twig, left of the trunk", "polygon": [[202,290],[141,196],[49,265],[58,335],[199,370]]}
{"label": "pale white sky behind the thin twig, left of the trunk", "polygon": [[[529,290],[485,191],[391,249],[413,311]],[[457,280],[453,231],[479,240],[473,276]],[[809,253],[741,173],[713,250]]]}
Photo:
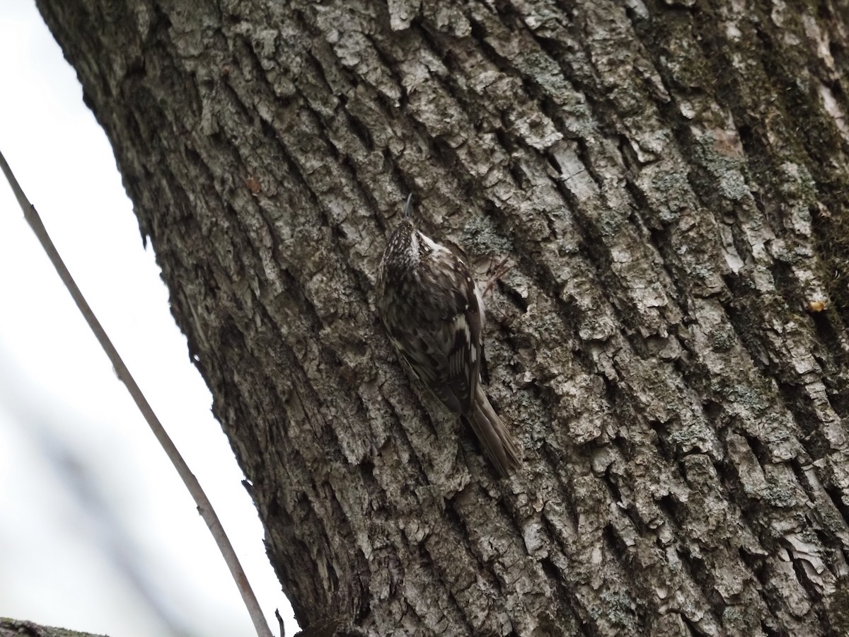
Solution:
{"label": "pale white sky behind the thin twig, left of the trunk", "polygon": [[[30,0],[0,8],[0,150],[216,507],[273,632],[297,626],[189,364],[104,132]],[[0,616],[93,633],[250,635],[194,502],[0,179]]]}

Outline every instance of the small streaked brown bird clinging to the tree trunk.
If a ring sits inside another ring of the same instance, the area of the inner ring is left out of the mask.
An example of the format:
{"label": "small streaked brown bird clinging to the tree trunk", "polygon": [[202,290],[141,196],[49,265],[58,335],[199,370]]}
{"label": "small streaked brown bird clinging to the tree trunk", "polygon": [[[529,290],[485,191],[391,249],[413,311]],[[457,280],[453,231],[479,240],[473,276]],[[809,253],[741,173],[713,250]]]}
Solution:
{"label": "small streaked brown bird clinging to the tree trunk", "polygon": [[411,194],[377,275],[377,308],[392,344],[448,409],[469,422],[507,476],[519,449],[481,387],[484,308],[466,256],[413,228]]}

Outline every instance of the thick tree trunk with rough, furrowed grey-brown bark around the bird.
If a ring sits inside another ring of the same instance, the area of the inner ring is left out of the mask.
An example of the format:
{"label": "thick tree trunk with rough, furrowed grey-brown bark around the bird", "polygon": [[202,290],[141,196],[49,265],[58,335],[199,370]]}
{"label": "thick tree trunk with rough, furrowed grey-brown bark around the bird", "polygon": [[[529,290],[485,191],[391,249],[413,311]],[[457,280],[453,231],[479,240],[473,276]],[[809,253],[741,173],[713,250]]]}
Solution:
{"label": "thick tree trunk with rough, furrowed grey-brown bark around the bird", "polygon": [[[849,631],[846,0],[123,4],[39,0],[301,626]],[[513,479],[374,314],[409,192]]]}

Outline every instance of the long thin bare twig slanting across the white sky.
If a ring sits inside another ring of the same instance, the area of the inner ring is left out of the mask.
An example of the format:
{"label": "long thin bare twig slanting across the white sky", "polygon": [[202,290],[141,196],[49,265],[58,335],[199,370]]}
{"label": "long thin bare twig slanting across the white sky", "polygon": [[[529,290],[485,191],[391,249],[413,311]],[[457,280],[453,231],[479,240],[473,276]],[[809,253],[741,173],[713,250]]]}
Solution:
{"label": "long thin bare twig slanting across the white sky", "polygon": [[230,544],[227,534],[224,533],[224,527],[222,527],[221,521],[218,520],[215,510],[212,509],[212,505],[206,497],[203,488],[200,487],[200,482],[198,482],[194,473],[188,469],[186,461],[183,460],[183,456],[181,456],[180,452],[177,451],[177,447],[171,441],[171,437],[169,437],[166,433],[165,428],[162,426],[159,419],[156,417],[156,414],[154,414],[154,410],[151,409],[147,399],[144,397],[142,390],[139,389],[136,381],[132,378],[130,370],[127,369],[127,365],[125,365],[124,361],[121,360],[121,356],[118,355],[118,351],[115,349],[115,346],[112,345],[112,341],[110,341],[109,336],[106,335],[103,326],[94,316],[92,308],[88,306],[86,299],[82,296],[82,292],[76,286],[74,279],[70,276],[68,268],[65,268],[65,263],[62,262],[62,257],[59,256],[59,251],[56,250],[56,246],[53,245],[53,241],[50,240],[48,231],[44,228],[44,224],[42,223],[41,217],[38,216],[36,207],[33,206],[26,198],[23,189],[20,188],[18,180],[14,178],[12,169],[9,168],[8,163],[6,163],[3,153],[0,153],[0,166],[3,167],[3,174],[6,175],[6,179],[14,191],[14,196],[20,204],[20,209],[24,211],[24,217],[27,223],[30,224],[32,231],[36,234],[44,251],[47,252],[50,262],[53,263],[53,267],[56,268],[56,272],[59,273],[59,278],[62,279],[65,287],[70,292],[70,296],[72,296],[74,302],[76,302],[76,307],[80,308],[80,312],[86,319],[88,327],[91,328],[94,335],[97,337],[100,347],[103,347],[104,352],[106,352],[106,355],[109,357],[113,367],[115,367],[115,373],[118,375],[118,378],[121,379],[121,382],[127,386],[127,391],[130,392],[130,396],[132,396],[132,399],[136,402],[136,406],[139,411],[142,412],[144,420],[148,421],[148,425],[150,426],[151,431],[154,432],[154,436],[157,440],[159,440],[162,448],[165,449],[165,453],[168,454],[168,458],[171,459],[171,463],[173,463],[174,468],[177,469],[177,473],[180,474],[181,478],[183,478],[183,482],[185,483],[186,488],[188,488],[188,493],[192,494],[194,503],[198,505],[198,512],[200,513],[200,516],[203,517],[206,522],[206,526],[209,527],[212,537],[215,538],[216,544],[218,544],[218,550],[221,551],[224,561],[227,562],[227,566],[230,569],[230,574],[233,575],[233,579],[236,581],[236,586],[239,587],[239,592],[242,594],[242,600],[245,601],[245,606],[247,606],[250,618],[254,623],[256,634],[258,637],[272,637],[271,629],[268,628],[265,617],[262,615],[259,602],[256,601],[256,595],[254,595],[253,590],[250,588],[250,583],[248,583],[248,578],[245,577],[245,571],[239,563],[239,558],[233,550],[233,545]]}

